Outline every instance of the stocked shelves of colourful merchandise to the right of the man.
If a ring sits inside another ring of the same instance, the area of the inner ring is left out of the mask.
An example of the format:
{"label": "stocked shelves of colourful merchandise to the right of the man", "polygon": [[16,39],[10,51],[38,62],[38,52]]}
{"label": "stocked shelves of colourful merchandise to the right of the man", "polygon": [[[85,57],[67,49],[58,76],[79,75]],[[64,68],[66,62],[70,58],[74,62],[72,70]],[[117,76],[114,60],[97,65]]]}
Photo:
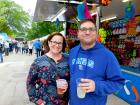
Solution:
{"label": "stocked shelves of colourful merchandise to the right of the man", "polygon": [[112,33],[105,40],[105,46],[115,53],[121,65],[136,69],[140,69],[139,18],[109,22]]}

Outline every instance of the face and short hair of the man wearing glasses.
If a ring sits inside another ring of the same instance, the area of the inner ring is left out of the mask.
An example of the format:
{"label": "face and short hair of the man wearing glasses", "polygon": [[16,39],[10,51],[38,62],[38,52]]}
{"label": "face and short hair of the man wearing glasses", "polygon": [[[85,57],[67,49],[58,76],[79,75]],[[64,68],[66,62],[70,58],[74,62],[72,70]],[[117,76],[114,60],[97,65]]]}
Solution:
{"label": "face and short hair of the man wearing glasses", "polygon": [[92,45],[97,39],[95,25],[90,22],[84,22],[79,27],[78,38],[82,45]]}

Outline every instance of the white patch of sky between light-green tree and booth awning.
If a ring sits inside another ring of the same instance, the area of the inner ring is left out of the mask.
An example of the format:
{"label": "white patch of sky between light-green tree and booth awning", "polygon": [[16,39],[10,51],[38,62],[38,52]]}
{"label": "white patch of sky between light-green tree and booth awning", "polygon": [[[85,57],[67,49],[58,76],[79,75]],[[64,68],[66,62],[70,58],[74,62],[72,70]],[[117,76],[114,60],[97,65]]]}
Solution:
{"label": "white patch of sky between light-green tree and booth awning", "polygon": [[21,5],[25,11],[28,11],[31,16],[34,15],[37,0],[12,0]]}

